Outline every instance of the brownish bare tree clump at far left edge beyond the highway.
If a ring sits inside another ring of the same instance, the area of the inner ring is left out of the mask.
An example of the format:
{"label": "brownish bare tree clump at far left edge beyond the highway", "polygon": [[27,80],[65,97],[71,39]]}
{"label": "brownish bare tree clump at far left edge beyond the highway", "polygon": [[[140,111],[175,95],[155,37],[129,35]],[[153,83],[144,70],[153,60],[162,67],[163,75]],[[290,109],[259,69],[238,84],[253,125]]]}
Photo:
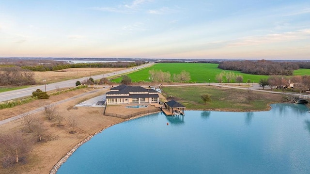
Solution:
{"label": "brownish bare tree clump at far left edge beyond the highway", "polygon": [[0,67],[0,86],[6,85],[34,85],[34,73],[20,67]]}

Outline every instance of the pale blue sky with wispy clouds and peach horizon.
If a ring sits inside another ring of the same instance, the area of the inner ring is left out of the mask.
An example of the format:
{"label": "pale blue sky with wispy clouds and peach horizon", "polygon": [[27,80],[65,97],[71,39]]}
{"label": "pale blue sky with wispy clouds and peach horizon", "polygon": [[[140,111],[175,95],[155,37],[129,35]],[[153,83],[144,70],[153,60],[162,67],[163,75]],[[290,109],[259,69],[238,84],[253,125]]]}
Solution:
{"label": "pale blue sky with wispy clouds and peach horizon", "polygon": [[310,60],[310,0],[0,0],[0,57]]}

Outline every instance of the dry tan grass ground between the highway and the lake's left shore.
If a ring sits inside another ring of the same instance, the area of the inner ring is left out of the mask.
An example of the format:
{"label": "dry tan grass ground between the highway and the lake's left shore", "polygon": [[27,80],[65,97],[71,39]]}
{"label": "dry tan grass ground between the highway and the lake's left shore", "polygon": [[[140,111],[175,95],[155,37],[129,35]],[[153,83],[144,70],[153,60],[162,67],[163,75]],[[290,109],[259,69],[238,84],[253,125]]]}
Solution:
{"label": "dry tan grass ground between the highway and the lake's left shore", "polygon": [[[44,106],[50,102],[66,99],[81,93],[89,92],[93,89],[82,89],[64,93],[62,95],[52,96],[47,100],[36,100],[34,102],[15,107],[13,109],[0,110],[1,119],[7,116],[14,116],[34,108]],[[88,136],[96,133],[104,127],[112,124],[120,123],[123,119],[108,117],[103,115],[102,107],[78,107],[74,109],[74,105],[88,98],[106,93],[108,89],[103,89],[95,93],[89,93],[87,96],[67,101],[57,105],[57,111],[64,117],[74,115],[78,121],[76,134],[70,134],[70,126],[66,121],[63,127],[57,127],[57,121],[47,120],[44,111],[35,113],[35,116],[44,122],[46,131],[44,132],[43,142],[36,142],[35,133],[25,133],[30,140],[34,140],[34,147],[27,158],[26,164],[18,164],[15,170],[18,174],[47,174],[52,167],[76,144],[86,139]],[[90,125],[92,125],[90,127]],[[0,126],[1,133],[9,133],[14,130],[23,129],[18,121],[13,121]],[[0,174],[6,174],[8,171],[0,167]]]}

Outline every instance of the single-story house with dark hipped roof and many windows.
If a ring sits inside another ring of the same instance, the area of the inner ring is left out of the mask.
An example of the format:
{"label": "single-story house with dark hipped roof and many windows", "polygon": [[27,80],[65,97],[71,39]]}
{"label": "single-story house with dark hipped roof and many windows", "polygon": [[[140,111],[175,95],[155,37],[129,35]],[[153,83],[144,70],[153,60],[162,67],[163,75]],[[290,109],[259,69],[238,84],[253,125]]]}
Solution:
{"label": "single-story house with dark hipped roof and many windows", "polygon": [[145,104],[159,103],[159,95],[156,90],[146,89],[141,86],[119,85],[110,89],[107,95],[109,104]]}

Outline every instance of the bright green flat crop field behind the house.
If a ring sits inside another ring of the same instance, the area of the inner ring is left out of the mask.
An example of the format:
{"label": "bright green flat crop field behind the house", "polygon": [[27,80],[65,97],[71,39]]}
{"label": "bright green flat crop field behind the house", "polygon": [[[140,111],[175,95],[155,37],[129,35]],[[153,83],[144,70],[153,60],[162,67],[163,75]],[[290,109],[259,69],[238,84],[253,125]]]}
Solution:
{"label": "bright green flat crop field behind the house", "polygon": [[[163,72],[170,72],[171,77],[173,74],[180,74],[182,70],[186,70],[190,73],[191,82],[202,83],[202,82],[217,82],[215,76],[221,73],[223,70],[217,68],[218,64],[215,63],[155,63],[153,66],[141,69],[140,71],[136,71],[128,74],[133,82],[139,81],[150,81],[149,70],[162,70]],[[230,71],[225,71],[230,72]],[[258,82],[260,79],[268,78],[268,76],[262,75],[251,75],[240,73],[239,71],[232,71],[236,75],[242,75],[244,82],[247,82],[248,79],[251,82]],[[116,78],[112,81],[120,82],[122,78]],[[224,79],[225,82],[225,79]]]}

